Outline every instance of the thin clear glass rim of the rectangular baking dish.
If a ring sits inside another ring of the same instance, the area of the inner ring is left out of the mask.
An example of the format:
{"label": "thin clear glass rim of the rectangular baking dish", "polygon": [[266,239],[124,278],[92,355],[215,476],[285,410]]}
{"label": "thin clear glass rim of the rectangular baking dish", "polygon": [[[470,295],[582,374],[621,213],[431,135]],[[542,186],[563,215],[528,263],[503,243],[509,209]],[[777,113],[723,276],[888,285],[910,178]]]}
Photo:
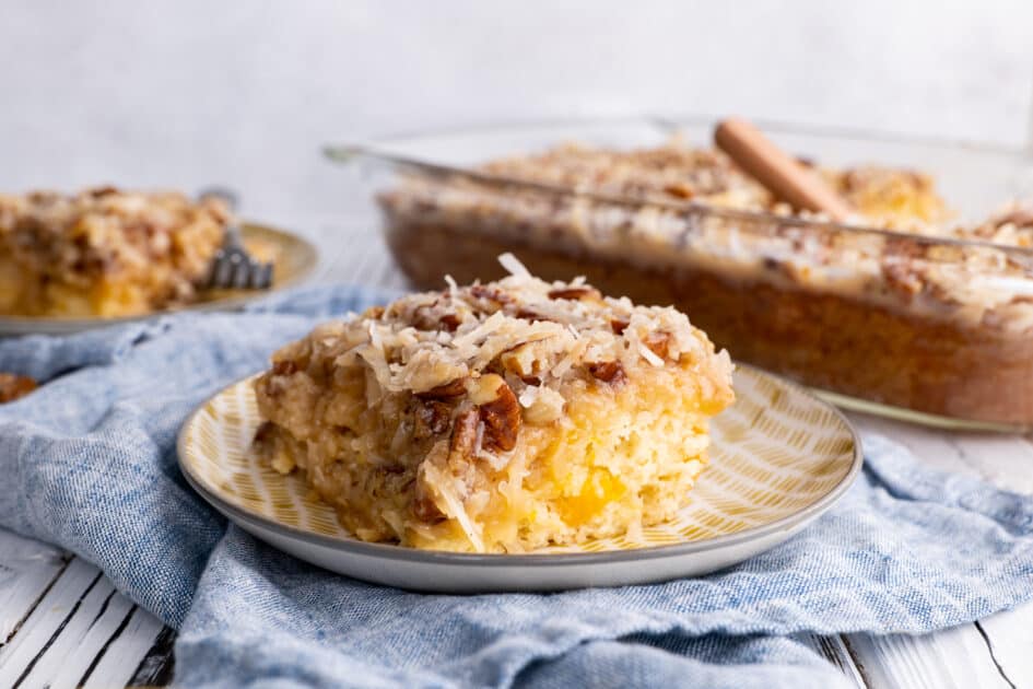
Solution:
{"label": "thin clear glass rim of the rectangular baking dish", "polygon": [[[960,248],[982,248],[982,249],[994,249],[1002,252],[1009,256],[1022,257],[1024,259],[1033,260],[1033,247],[1020,247],[1020,246],[1009,246],[1006,244],[997,244],[995,242],[984,241],[984,240],[965,240],[965,238],[955,238],[955,237],[944,237],[936,235],[922,235],[909,232],[902,232],[895,230],[885,230],[880,227],[872,227],[868,225],[858,225],[858,224],[847,224],[841,223],[832,220],[815,220],[808,218],[799,218],[796,215],[777,215],[775,213],[768,213],[764,211],[749,211],[740,210],[732,208],[720,208],[716,206],[708,206],[699,201],[677,201],[677,200],[644,200],[635,199],[631,197],[617,196],[617,195],[607,195],[599,194],[595,191],[585,191],[580,189],[572,189],[570,187],[553,185],[541,182],[532,182],[528,179],[520,179],[517,177],[508,177],[504,175],[492,175],[477,171],[471,167],[463,167],[459,165],[448,165],[444,163],[436,163],[429,160],[421,160],[419,157],[412,157],[407,155],[399,155],[390,153],[387,151],[378,150],[376,147],[378,144],[389,144],[392,141],[404,141],[404,140],[415,140],[415,139],[431,139],[434,137],[444,137],[444,136],[455,136],[462,132],[490,132],[493,130],[497,131],[517,131],[520,129],[532,129],[536,127],[549,127],[549,126],[588,126],[588,125],[620,125],[620,124],[632,124],[632,122],[643,122],[657,126],[659,128],[665,128],[670,130],[671,133],[676,133],[679,127],[686,125],[703,126],[706,124],[712,124],[717,118],[707,118],[705,116],[669,116],[669,117],[613,117],[613,118],[571,118],[571,119],[541,119],[541,120],[520,120],[514,122],[480,122],[480,124],[468,124],[459,125],[455,127],[442,127],[441,129],[429,129],[421,131],[403,132],[394,136],[377,137],[372,140],[371,143],[343,143],[343,144],[327,144],[322,148],[324,155],[333,163],[340,164],[351,164],[360,160],[371,160],[376,161],[381,164],[387,164],[392,167],[401,170],[413,170],[424,174],[430,174],[434,177],[460,177],[466,178],[471,182],[493,186],[493,187],[508,187],[524,189],[527,191],[535,191],[539,194],[548,194],[551,196],[557,197],[571,197],[571,198],[584,198],[600,203],[608,203],[611,206],[623,206],[623,207],[634,207],[642,208],[644,206],[660,208],[669,210],[672,212],[679,212],[685,215],[691,215],[695,218],[720,218],[724,220],[740,221],[748,223],[761,224],[777,224],[780,226],[794,226],[801,227],[805,230],[814,230],[814,231],[824,231],[831,233],[844,233],[853,236],[877,236],[883,237],[885,240],[896,240],[903,242],[912,242],[926,246],[951,246]],[[937,139],[932,137],[903,137],[895,135],[879,135],[874,132],[864,132],[864,131],[854,131],[854,130],[835,130],[833,128],[820,128],[815,127],[813,129],[808,129],[801,125],[791,125],[785,122],[772,122],[764,120],[755,120],[759,126],[764,128],[767,131],[775,133],[786,133],[786,135],[797,135],[797,136],[810,136],[818,138],[848,138],[857,140],[870,140],[870,141],[881,141],[884,143],[913,143],[913,144],[923,144],[930,147],[940,147],[946,149],[958,149],[958,150],[973,150],[981,153],[1000,155],[1011,157],[1017,162],[1025,161],[1033,165],[1033,155],[1030,155],[1029,152],[1021,149],[1012,149],[1008,147],[998,147],[993,144],[981,144],[972,143],[960,140],[950,140],[950,139]],[[556,142],[561,143],[560,141]],[[515,151],[514,154],[519,154],[519,151]]]}

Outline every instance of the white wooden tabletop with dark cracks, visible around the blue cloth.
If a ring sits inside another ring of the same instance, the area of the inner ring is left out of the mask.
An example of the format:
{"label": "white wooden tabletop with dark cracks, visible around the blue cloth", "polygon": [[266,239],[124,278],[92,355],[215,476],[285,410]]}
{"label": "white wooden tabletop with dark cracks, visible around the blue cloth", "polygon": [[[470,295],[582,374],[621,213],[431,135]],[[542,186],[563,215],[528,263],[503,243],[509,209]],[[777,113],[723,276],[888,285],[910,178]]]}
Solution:
{"label": "white wooden tabletop with dark cracks, visible around the blue cloth", "polygon": [[[367,219],[283,224],[320,245],[316,281],[402,287]],[[1033,494],[1029,437],[849,416],[862,432],[888,435],[930,465]],[[92,564],[0,529],[0,688],[164,685],[172,678],[173,641],[172,630],[117,593]],[[806,641],[860,688],[1033,689],[1033,604],[932,634]]]}

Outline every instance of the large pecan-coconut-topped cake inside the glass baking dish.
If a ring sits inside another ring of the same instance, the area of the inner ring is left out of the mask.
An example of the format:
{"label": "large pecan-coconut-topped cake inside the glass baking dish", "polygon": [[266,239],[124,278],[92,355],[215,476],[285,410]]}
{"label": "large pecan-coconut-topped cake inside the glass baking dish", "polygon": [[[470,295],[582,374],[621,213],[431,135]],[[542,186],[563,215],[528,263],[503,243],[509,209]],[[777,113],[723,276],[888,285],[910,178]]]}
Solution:
{"label": "large pecan-coconut-topped cake inside the glass baking dish", "polygon": [[776,201],[719,151],[562,147],[477,174],[402,178],[378,201],[419,287],[536,275],[692,314],[718,347],[809,385],[1033,427],[1033,211],[959,225],[927,175],[817,167],[852,227]]}

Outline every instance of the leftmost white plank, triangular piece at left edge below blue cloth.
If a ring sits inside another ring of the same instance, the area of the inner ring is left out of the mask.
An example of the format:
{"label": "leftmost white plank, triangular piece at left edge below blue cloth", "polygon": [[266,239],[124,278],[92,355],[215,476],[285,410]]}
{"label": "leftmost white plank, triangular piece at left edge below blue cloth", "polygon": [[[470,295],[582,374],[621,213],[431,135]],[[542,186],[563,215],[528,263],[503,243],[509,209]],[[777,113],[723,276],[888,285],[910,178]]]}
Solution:
{"label": "leftmost white plank, triangular piece at left edge below blue cloth", "polygon": [[52,546],[0,529],[0,647],[66,565]]}

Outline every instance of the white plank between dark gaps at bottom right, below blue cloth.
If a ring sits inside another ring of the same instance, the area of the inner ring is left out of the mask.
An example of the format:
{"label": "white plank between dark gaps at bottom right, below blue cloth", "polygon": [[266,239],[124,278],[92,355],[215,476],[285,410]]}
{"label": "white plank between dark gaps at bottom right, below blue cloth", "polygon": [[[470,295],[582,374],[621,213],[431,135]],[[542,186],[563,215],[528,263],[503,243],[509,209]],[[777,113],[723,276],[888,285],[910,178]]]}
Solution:
{"label": "white plank between dark gaps at bottom right, below blue cloth", "polygon": [[873,688],[1011,689],[975,624],[932,634],[849,634],[846,642]]}

